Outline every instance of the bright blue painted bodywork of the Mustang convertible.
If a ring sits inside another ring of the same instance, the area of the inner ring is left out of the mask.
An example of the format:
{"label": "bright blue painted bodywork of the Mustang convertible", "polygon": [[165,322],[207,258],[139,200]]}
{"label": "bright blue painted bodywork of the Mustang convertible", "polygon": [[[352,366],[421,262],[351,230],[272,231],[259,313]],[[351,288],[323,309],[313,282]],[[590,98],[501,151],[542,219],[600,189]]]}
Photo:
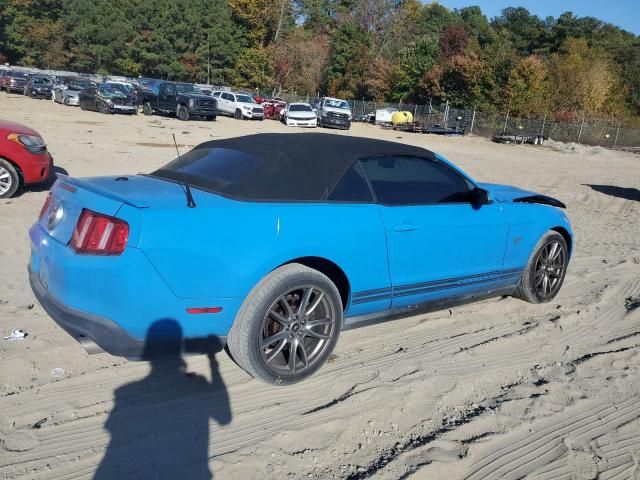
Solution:
{"label": "bright blue painted bodywork of the Mustang convertible", "polygon": [[[166,318],[186,338],[225,337],[255,285],[304,257],[344,272],[346,317],[384,315],[515,288],[546,231],[572,236],[562,210],[513,202],[531,192],[477,185],[489,191],[489,204],[247,202],[193,189],[197,208],[187,208],[183,187],[169,181],[61,177],[52,197],[63,219],[51,230],[46,220],[31,228],[30,269],[56,302],[108,319],[138,340]],[[84,208],[129,224],[122,255],[79,255],[68,246]],[[222,311],[191,315],[191,307]]]}

